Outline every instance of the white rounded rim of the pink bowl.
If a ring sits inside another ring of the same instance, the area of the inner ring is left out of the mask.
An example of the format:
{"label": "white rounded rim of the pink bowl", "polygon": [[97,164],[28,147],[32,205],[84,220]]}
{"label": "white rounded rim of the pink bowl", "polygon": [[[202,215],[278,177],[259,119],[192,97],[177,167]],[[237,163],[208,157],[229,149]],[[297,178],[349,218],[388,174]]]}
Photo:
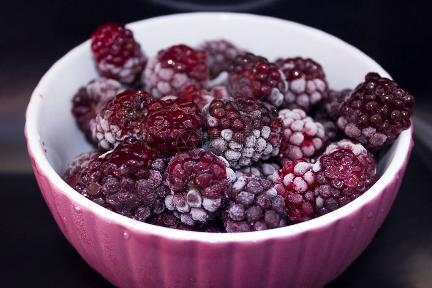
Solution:
{"label": "white rounded rim of the pink bowl", "polygon": [[[291,25],[293,27],[297,27],[298,29],[307,30],[308,33],[318,35],[318,37],[327,37],[332,41],[336,41],[337,43],[346,46],[346,49],[352,50],[351,52],[354,55],[358,55],[364,58],[365,61],[369,61],[376,67],[381,68],[382,71],[379,72],[383,77],[389,77],[391,79],[390,75],[388,75],[388,73],[384,69],[382,69],[382,67],[378,63],[376,63],[372,58],[364,54],[358,48],[344,42],[336,36],[333,36],[316,28],[292,22],[289,20],[247,13],[193,12],[148,18],[132,22],[130,24],[127,24],[127,26],[130,29],[134,29],[134,27],[141,25],[143,22],[148,23],[166,20],[181,21],[181,19],[189,17],[204,17],[206,21],[209,21],[209,19],[229,21],[230,18],[243,18],[243,20],[249,21],[252,18],[254,21],[264,21],[272,23],[273,25]],[[44,150],[40,145],[40,136],[37,128],[37,115],[40,107],[40,101],[36,100],[39,97],[39,91],[46,90],[46,82],[48,82],[46,81],[46,79],[53,76],[55,77],[56,71],[59,70],[60,67],[67,65],[67,59],[71,55],[79,54],[81,50],[87,49],[89,47],[89,42],[90,40],[87,40],[70,50],[63,57],[57,60],[41,78],[32,93],[30,102],[26,110],[25,136],[27,139],[29,155],[32,159],[32,164],[34,164],[33,169],[35,170],[37,168],[39,174],[45,175],[50,182],[51,187],[57,189],[59,193],[66,196],[72,203],[75,203],[75,207],[79,207],[81,209],[85,208],[94,213],[97,217],[102,218],[104,221],[111,222],[113,225],[118,224],[123,226],[125,228],[125,233],[129,230],[128,233],[153,234],[164,238],[176,240],[195,240],[206,243],[256,242],[275,238],[293,237],[302,232],[312,231],[314,229],[321,229],[323,227],[329,226],[332,223],[341,220],[342,218],[354,214],[362,207],[366,207],[367,203],[379,197],[381,192],[394,181],[394,178],[397,178],[396,174],[403,166],[403,164],[407,161],[407,157],[409,156],[412,142],[412,123],[409,129],[402,131],[401,134],[398,136],[397,141],[393,143],[393,145],[396,145],[396,147],[394,148],[394,155],[400,155],[403,157],[393,157],[393,159],[390,161],[390,164],[388,165],[388,168],[382,174],[379,180],[361,197],[356,199],[356,201],[350,202],[346,206],[343,206],[329,214],[322,215],[315,219],[311,219],[302,223],[297,223],[286,227],[269,229],[264,231],[240,233],[207,233],[160,227],[128,218],[126,216],[117,214],[116,212],[110,211],[106,208],[103,208],[102,206],[99,206],[96,203],[86,199],[79,193],[76,193],[76,191],[70,186],[68,186],[66,182],[63,181],[63,179],[49,164]],[[53,193],[53,191],[50,191],[49,193]]]}

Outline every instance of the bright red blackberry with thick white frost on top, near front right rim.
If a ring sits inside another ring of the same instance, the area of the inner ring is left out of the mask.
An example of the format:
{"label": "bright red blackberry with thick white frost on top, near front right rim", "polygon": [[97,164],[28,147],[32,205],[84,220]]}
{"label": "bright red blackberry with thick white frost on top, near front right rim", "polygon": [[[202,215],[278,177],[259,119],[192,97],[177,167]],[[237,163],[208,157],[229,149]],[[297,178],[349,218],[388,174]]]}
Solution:
{"label": "bright red blackberry with thick white frost on top, near front right rim", "polygon": [[288,161],[273,175],[274,189],[285,199],[288,217],[303,222],[316,217],[316,172],[304,159]]}

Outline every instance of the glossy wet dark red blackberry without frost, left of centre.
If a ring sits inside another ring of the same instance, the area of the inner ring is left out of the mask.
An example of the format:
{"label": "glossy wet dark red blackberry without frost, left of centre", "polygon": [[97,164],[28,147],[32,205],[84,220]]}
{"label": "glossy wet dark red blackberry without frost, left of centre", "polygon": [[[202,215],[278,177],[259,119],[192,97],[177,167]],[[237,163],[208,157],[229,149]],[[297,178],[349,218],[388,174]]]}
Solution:
{"label": "glossy wet dark red blackberry without frost, left of centre", "polygon": [[143,137],[164,157],[199,146],[204,117],[187,99],[156,100],[147,105]]}

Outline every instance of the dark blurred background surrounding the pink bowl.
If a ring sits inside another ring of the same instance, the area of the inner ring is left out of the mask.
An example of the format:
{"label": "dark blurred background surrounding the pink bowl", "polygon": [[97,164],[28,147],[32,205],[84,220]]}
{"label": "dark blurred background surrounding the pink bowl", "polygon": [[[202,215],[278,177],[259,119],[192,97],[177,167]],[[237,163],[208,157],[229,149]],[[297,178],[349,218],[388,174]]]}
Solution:
{"label": "dark blurred background surrounding the pink bowl", "polygon": [[[432,165],[429,1],[15,0],[0,8],[0,277],[5,287],[110,286],[57,228],[24,138],[25,108],[49,67],[104,22],[190,11],[292,20],[333,34],[375,59],[415,95],[415,146],[399,195],[365,252],[328,287],[431,287]],[[272,45],[272,43],[269,43]],[[325,68],[325,67],[324,67]]]}

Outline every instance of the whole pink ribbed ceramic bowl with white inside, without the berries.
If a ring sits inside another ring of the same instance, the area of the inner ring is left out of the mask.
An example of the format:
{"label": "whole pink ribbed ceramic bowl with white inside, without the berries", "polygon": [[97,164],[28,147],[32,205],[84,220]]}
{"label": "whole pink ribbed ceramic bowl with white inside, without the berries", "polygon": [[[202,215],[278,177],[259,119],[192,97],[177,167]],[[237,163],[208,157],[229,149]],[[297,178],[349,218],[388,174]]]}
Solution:
{"label": "whole pink ribbed ceramic bowl with white inside, without the berries", "polygon": [[[358,49],[289,21],[231,13],[158,17],[129,25],[147,55],[184,43],[225,38],[264,55],[312,57],[332,88],[355,87],[369,71],[390,77]],[[403,131],[379,163],[381,178],[363,196],[319,218],[248,233],[179,231],[137,222],[85,199],[60,177],[91,150],[70,113],[78,87],[96,77],[90,42],[41,79],[27,109],[36,179],[57,224],[96,271],[121,287],[316,287],[336,278],[371,242],[396,197],[412,147]],[[361,271],[359,271],[361,273]]]}

